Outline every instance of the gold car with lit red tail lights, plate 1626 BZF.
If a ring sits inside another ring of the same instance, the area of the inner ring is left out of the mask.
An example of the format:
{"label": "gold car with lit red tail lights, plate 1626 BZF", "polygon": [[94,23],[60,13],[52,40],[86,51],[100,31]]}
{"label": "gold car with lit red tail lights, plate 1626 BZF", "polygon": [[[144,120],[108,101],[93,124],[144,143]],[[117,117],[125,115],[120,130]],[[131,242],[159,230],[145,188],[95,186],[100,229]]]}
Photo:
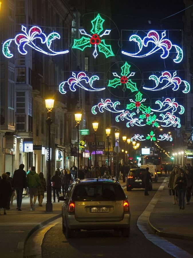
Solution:
{"label": "gold car with lit red tail lights, plate 1626 BZF", "polygon": [[76,179],[62,204],[62,231],[66,238],[76,230],[120,230],[129,237],[127,196],[113,179]]}

